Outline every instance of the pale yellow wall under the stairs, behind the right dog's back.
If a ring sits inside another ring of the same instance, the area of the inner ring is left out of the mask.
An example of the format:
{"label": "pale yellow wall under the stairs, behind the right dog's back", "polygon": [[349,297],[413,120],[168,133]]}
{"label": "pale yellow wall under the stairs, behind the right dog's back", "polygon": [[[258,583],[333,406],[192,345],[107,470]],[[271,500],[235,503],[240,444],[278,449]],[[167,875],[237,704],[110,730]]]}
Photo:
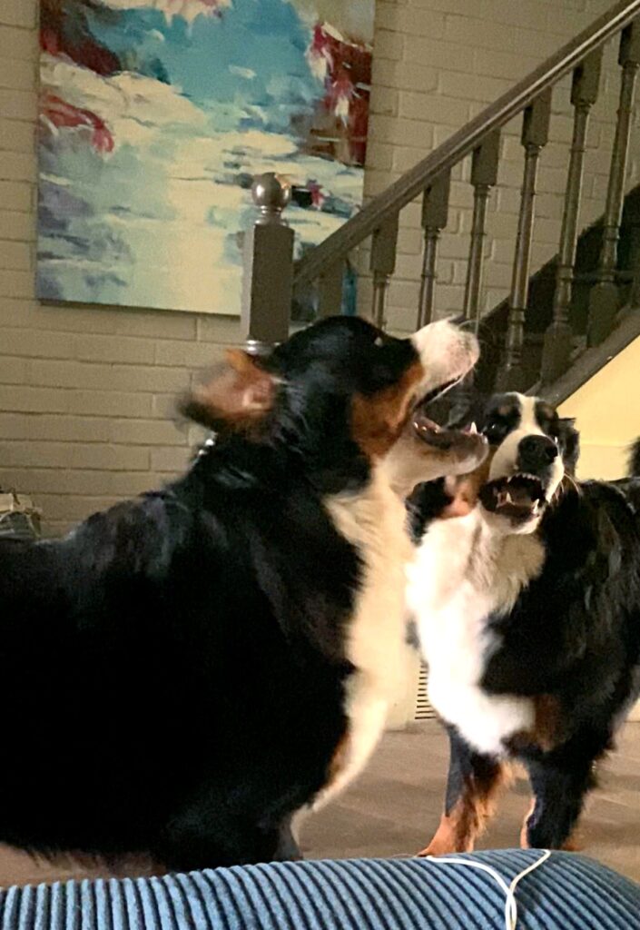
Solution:
{"label": "pale yellow wall under the stairs, behind the right dog's back", "polygon": [[621,478],[640,436],[640,339],[616,355],[560,407],[580,430],[580,478]]}

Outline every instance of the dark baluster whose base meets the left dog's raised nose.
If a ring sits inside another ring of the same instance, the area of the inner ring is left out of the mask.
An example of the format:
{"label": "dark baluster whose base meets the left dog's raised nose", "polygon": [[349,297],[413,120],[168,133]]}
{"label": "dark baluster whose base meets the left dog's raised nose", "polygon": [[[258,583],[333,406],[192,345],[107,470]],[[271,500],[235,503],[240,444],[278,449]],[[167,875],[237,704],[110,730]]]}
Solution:
{"label": "dark baluster whose base meets the left dog's raised nose", "polygon": [[487,204],[491,188],[498,180],[500,161],[500,130],[492,132],[473,152],[471,182],[473,184],[473,220],[467,283],[464,288],[464,317],[475,320],[475,332],[480,328],[480,294],[485,261],[484,247],[487,226]]}

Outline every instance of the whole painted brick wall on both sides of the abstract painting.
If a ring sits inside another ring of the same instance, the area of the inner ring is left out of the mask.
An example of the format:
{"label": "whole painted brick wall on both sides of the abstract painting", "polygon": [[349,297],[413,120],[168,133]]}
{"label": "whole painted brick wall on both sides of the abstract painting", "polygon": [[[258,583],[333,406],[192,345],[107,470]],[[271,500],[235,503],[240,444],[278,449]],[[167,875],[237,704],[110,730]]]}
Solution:
{"label": "whole painted brick wall on both sides of the abstract painting", "polygon": [[[383,189],[553,51],[610,0],[378,0],[367,193]],[[37,0],[0,2],[0,483],[33,494],[57,533],[113,500],[179,471],[189,436],[172,421],[193,372],[237,339],[232,318],[95,307],[33,298]],[[473,15],[472,15],[473,14]],[[602,212],[618,76],[595,108],[584,217]],[[570,133],[567,82],[540,173],[536,260],[553,254]],[[560,114],[564,114],[561,116]],[[504,140],[489,218],[487,302],[510,278],[522,153]],[[636,166],[633,166],[637,177]],[[440,311],[460,310],[471,192],[458,169],[443,239]],[[597,192],[594,198],[593,192]],[[420,207],[399,235],[391,323],[409,330],[420,272]],[[361,288],[367,294],[367,283]],[[366,302],[366,297],[365,297]],[[191,437],[193,439],[193,435]]]}

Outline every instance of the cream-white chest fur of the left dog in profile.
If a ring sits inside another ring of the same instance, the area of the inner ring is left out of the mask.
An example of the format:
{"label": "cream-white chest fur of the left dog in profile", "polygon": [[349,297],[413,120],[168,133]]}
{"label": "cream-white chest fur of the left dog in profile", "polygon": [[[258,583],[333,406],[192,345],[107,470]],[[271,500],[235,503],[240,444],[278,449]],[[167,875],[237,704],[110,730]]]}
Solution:
{"label": "cream-white chest fur of the left dog in profile", "polygon": [[367,763],[393,701],[404,687],[405,566],[411,555],[405,507],[382,472],[358,495],[326,501],[340,533],[363,560],[361,588],[348,631],[346,657],[356,671],[347,683],[349,734],[336,777],[314,807],[344,788]]}

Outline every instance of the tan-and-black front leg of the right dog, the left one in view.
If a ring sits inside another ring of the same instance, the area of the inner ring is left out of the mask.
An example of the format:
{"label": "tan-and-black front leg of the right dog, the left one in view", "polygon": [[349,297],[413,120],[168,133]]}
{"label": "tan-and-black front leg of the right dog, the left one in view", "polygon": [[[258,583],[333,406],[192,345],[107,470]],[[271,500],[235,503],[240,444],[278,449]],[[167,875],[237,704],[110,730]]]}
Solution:
{"label": "tan-and-black front leg of the right dog, the left one in view", "polygon": [[499,760],[474,752],[453,727],[449,737],[449,771],[445,813],[431,843],[420,856],[470,853],[493,813],[496,791],[504,780]]}

